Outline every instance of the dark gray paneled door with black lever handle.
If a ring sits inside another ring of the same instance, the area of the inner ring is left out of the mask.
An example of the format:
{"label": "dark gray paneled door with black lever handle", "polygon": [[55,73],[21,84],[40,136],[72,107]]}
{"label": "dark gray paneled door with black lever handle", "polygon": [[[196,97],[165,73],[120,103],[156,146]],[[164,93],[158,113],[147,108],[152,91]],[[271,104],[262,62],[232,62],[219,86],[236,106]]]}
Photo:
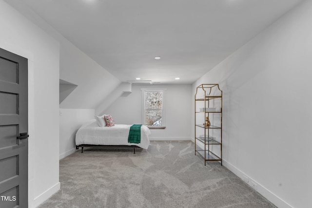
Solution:
{"label": "dark gray paneled door with black lever handle", "polygon": [[0,49],[0,208],[28,207],[27,65]]}

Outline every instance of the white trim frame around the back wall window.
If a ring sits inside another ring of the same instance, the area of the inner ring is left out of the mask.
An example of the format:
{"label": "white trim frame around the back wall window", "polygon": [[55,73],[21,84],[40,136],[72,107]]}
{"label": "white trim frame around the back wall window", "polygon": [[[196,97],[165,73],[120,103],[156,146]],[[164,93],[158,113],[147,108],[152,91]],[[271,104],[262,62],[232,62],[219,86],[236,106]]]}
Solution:
{"label": "white trim frame around the back wall window", "polygon": [[156,92],[156,91],[162,91],[162,117],[161,117],[161,124],[162,126],[154,127],[154,126],[148,126],[150,129],[165,129],[166,128],[166,88],[141,88],[142,91],[142,124],[145,125],[145,92]]}

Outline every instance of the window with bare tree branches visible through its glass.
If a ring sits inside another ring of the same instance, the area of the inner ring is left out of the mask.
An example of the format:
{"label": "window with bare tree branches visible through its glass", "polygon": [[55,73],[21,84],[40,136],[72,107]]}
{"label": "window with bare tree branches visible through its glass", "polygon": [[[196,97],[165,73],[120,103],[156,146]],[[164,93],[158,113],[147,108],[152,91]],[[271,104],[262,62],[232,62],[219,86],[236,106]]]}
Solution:
{"label": "window with bare tree branches visible through its glass", "polygon": [[150,128],[164,127],[164,90],[142,89],[143,124]]}

